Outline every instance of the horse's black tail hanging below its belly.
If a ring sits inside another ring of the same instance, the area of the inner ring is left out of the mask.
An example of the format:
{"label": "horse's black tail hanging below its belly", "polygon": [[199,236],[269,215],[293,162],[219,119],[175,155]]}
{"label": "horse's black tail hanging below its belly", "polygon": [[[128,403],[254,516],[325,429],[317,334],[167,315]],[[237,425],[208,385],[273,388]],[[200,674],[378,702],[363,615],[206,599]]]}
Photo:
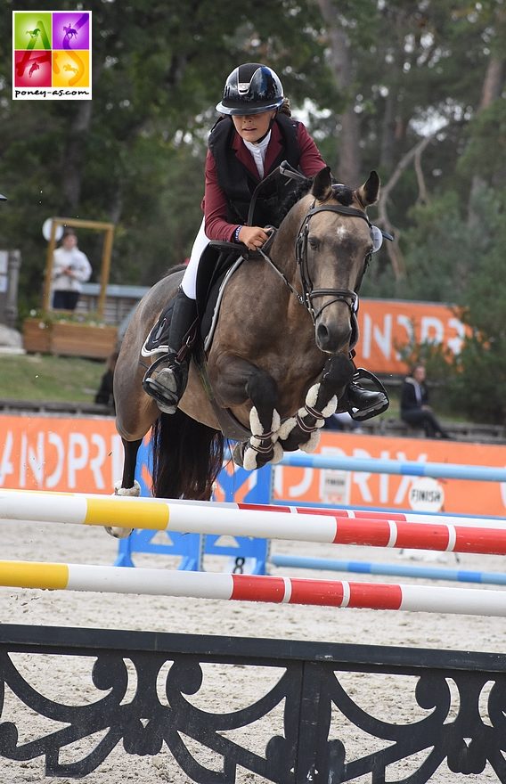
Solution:
{"label": "horse's black tail hanging below its belly", "polygon": [[179,409],[161,413],[151,434],[152,493],[208,501],[223,464],[224,436]]}

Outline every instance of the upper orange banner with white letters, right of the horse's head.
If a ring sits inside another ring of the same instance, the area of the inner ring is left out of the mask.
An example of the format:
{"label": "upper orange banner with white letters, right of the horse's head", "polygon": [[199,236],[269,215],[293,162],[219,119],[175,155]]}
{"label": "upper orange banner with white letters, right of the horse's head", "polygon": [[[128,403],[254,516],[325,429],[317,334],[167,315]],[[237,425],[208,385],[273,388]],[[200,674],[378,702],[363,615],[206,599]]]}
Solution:
{"label": "upper orange banner with white letters, right of the horse's head", "polygon": [[400,347],[429,342],[459,354],[469,331],[450,305],[367,298],[360,300],[358,326],[355,363],[371,372],[403,375],[407,368]]}

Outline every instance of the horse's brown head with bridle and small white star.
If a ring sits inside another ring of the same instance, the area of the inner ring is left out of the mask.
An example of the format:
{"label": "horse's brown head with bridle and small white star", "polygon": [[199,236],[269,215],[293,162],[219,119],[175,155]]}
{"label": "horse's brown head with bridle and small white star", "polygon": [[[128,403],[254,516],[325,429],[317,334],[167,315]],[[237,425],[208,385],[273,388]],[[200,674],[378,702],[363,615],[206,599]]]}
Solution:
{"label": "horse's brown head with bridle and small white star", "polygon": [[313,320],[316,345],[327,354],[355,345],[356,291],[372,250],[365,208],[378,199],[380,177],[372,171],[352,191],[331,184],[330,169],[314,177],[297,240],[303,294]]}

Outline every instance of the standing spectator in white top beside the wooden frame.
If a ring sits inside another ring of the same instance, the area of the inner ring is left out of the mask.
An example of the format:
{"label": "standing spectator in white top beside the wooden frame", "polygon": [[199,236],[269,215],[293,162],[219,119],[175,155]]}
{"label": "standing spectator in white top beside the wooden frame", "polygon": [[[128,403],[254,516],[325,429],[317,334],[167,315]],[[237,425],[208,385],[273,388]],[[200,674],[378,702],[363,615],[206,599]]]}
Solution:
{"label": "standing spectator in white top beside the wooden frame", "polygon": [[53,256],[53,308],[75,310],[82,291],[81,283],[89,280],[91,274],[86,255],[78,249],[78,237],[71,229],[66,229],[61,247]]}

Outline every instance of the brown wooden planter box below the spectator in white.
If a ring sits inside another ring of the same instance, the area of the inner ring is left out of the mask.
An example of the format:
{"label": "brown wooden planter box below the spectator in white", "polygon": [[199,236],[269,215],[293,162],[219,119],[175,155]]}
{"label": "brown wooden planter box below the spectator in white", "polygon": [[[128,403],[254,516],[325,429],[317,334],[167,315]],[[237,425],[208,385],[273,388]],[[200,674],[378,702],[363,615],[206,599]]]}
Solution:
{"label": "brown wooden planter box below the spectator in white", "polygon": [[116,348],[117,327],[93,324],[45,324],[37,318],[23,324],[23,344],[29,353],[84,356],[89,359],[107,359]]}

